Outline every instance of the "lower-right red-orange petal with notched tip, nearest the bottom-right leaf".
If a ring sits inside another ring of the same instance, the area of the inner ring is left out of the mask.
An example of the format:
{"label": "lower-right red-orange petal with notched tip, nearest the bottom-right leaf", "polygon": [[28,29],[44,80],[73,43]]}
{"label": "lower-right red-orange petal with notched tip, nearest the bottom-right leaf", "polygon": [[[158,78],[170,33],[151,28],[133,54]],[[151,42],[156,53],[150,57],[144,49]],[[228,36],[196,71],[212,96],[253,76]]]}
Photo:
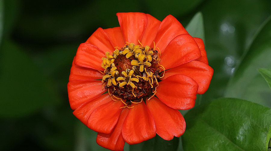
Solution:
{"label": "lower-right red-orange petal with notched tip, nearest the bottom-right leaf", "polygon": [[185,132],[185,120],[182,114],[162,103],[158,98],[146,101],[156,127],[156,133],[164,140],[180,137]]}

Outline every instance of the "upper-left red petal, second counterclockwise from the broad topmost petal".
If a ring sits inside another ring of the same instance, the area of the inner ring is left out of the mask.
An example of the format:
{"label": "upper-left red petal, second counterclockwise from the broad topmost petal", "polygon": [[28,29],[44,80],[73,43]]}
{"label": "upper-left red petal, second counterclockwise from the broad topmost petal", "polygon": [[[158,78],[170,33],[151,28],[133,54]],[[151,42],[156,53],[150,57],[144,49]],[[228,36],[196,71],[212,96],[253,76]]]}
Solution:
{"label": "upper-left red petal, second counterclockwise from the broad topmost petal", "polygon": [[99,27],[86,41],[86,43],[92,44],[98,47],[101,51],[110,52],[112,53],[115,49],[112,46],[109,37],[107,36],[106,32]]}

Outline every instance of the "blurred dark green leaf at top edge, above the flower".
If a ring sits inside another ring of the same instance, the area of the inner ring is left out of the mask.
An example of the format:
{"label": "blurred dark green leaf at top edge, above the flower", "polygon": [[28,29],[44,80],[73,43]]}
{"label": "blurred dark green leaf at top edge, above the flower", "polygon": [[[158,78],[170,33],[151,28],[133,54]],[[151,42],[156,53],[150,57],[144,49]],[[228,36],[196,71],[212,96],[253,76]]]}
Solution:
{"label": "blurred dark green leaf at top edge, above the flower", "polygon": [[163,1],[163,0],[146,0],[148,11],[157,19],[164,19],[167,15],[172,14],[175,17],[184,15],[197,7],[202,0],[190,1]]}

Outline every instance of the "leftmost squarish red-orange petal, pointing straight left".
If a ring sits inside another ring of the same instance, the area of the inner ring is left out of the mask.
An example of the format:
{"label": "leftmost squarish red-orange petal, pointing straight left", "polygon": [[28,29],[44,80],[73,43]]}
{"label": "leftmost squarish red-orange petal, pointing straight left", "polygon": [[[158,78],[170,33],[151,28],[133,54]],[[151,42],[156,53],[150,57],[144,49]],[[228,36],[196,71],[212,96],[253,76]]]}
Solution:
{"label": "leftmost squarish red-orange petal, pointing straight left", "polygon": [[86,101],[98,97],[107,90],[100,80],[73,80],[68,83],[70,108],[75,110]]}

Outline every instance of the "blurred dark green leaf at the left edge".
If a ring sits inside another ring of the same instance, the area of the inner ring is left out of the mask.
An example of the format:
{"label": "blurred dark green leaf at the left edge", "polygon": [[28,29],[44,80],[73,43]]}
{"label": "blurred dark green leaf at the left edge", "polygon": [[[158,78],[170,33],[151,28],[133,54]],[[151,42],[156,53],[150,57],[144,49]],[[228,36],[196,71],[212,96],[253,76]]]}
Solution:
{"label": "blurred dark green leaf at the left edge", "polygon": [[3,39],[0,61],[0,117],[22,117],[59,103],[50,79],[15,43]]}

